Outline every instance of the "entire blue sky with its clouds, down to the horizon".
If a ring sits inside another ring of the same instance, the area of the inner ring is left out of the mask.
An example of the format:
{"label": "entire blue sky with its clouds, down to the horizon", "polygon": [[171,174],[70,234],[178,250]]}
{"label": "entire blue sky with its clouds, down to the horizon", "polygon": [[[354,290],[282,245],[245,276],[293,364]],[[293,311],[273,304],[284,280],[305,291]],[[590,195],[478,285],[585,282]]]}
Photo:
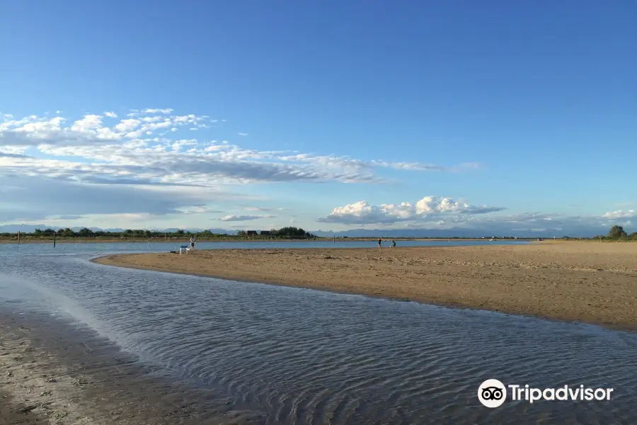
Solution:
{"label": "entire blue sky with its clouds, down to the horizon", "polygon": [[633,1],[6,4],[0,224],[637,230],[635,22]]}

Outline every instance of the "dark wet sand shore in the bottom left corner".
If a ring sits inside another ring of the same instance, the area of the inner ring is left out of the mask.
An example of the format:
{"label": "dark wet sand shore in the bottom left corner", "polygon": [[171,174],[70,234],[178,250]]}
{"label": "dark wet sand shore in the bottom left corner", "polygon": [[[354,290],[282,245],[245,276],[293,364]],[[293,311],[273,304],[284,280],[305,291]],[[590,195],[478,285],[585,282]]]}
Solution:
{"label": "dark wet sand shore in the bottom left corner", "polygon": [[182,385],[90,329],[0,310],[0,425],[258,424],[212,390]]}

